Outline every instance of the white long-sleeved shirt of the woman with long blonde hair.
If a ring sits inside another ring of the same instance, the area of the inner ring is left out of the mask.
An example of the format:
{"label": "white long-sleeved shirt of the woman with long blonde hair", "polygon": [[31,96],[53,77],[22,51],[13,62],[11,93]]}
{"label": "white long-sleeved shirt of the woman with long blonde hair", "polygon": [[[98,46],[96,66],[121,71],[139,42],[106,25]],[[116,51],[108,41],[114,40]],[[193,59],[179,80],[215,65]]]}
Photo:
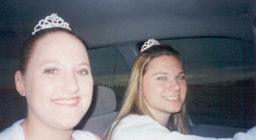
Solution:
{"label": "white long-sleeved shirt of the woman with long blonde hair", "polygon": [[[116,123],[116,122],[115,122]],[[115,124],[114,123],[114,124]],[[111,140],[167,140],[167,139],[186,139],[186,140],[205,140],[216,138],[204,138],[195,135],[183,135],[179,132],[170,132],[167,128],[160,125],[149,116],[131,114],[124,117],[113,131]],[[256,139],[256,127],[246,133],[236,133],[233,138],[221,138],[218,140],[252,140]]]}

